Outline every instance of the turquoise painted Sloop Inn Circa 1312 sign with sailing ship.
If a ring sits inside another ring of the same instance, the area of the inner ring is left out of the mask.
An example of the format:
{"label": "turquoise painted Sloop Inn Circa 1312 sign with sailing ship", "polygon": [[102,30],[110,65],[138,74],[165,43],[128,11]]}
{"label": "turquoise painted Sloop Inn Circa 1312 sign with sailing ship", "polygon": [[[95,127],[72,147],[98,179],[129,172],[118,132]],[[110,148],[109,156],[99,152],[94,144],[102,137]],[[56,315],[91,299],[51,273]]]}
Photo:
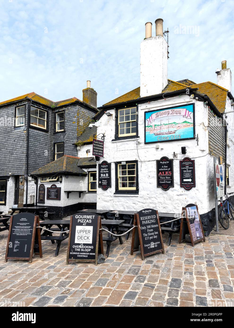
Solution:
{"label": "turquoise painted Sloop Inn Circa 1312 sign with sailing ship", "polygon": [[195,137],[194,106],[176,106],[145,112],[145,143]]}

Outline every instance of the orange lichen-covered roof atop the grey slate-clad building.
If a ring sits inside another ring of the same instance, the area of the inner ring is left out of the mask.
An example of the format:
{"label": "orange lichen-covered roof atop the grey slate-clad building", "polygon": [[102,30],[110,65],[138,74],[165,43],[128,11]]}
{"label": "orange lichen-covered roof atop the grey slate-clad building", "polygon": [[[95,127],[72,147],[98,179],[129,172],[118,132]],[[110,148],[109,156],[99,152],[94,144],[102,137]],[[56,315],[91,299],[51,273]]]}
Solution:
{"label": "orange lichen-covered roof atop the grey slate-clad building", "polygon": [[[14,102],[14,101],[17,101],[17,100],[23,100],[23,99],[32,99],[32,100],[34,100],[34,101],[36,101],[40,104],[43,104],[43,105],[46,105],[46,106],[49,106],[49,107],[53,107],[53,108],[63,106],[63,105],[67,105],[67,104],[71,104],[71,103],[74,103],[75,101],[79,101],[79,102],[85,104],[88,107],[92,107],[92,106],[84,103],[82,100],[80,100],[76,97],[65,99],[65,100],[60,100],[60,101],[52,101],[50,99],[47,99],[45,97],[40,96],[39,94],[37,94],[35,92],[26,93],[26,94],[23,94],[22,96],[2,101],[2,102],[0,102],[0,106],[4,105],[4,104],[11,103],[11,102]],[[95,108],[95,110],[96,110],[96,108]]]}

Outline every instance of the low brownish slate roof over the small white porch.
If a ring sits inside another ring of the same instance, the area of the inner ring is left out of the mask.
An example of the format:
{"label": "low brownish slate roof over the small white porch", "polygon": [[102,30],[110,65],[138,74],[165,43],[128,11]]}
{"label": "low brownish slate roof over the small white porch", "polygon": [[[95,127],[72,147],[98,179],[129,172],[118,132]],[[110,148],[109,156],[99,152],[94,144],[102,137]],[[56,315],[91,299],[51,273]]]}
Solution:
{"label": "low brownish slate roof over the small white porch", "polygon": [[[85,158],[86,159],[86,158]],[[53,174],[68,174],[68,175],[87,175],[87,173],[78,166],[79,157],[63,155],[55,161],[33,171],[31,175],[53,175]]]}

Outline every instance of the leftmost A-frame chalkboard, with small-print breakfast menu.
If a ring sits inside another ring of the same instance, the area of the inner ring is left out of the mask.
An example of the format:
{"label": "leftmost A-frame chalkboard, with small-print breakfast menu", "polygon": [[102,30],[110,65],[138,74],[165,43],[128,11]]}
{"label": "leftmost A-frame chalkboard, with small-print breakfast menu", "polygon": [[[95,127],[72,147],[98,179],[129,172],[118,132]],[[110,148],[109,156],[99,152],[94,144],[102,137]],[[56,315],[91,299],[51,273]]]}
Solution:
{"label": "leftmost A-frame chalkboard, with small-print breakfast menu", "polygon": [[19,213],[11,216],[5,262],[9,259],[32,262],[33,251],[42,257],[39,216]]}

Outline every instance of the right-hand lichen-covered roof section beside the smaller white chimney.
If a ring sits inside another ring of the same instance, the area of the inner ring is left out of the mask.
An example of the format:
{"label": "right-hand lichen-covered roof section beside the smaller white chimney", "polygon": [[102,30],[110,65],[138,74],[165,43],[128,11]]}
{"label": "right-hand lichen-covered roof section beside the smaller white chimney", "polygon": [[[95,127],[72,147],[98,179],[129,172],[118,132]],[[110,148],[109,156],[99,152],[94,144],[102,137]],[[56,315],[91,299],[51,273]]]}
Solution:
{"label": "right-hand lichen-covered roof section beside the smaller white chimney", "polygon": [[193,88],[198,88],[198,91],[206,94],[220,113],[225,111],[227,89],[210,81],[194,84]]}

